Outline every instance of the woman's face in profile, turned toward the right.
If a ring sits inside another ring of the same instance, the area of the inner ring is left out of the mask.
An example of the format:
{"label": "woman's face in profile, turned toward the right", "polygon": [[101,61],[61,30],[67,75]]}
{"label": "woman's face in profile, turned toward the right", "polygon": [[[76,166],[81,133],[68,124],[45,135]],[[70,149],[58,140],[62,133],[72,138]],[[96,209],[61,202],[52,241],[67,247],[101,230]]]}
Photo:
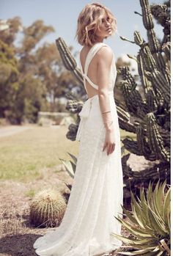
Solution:
{"label": "woman's face in profile, turned toward the right", "polygon": [[101,19],[100,30],[97,29],[95,34],[97,35],[97,37],[103,38],[111,36],[111,22],[106,12]]}

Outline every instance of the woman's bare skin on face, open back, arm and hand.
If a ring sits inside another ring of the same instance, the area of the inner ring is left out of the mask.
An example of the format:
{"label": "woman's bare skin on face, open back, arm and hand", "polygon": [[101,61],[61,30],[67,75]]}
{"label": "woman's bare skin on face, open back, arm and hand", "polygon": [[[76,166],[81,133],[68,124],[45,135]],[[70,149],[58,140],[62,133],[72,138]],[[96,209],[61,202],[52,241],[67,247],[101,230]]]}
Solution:
{"label": "woman's bare skin on face, open back, arm and hand", "polygon": [[[100,26],[100,31],[97,30],[97,43],[103,42],[105,37],[111,35],[111,23],[109,22],[108,15],[105,12],[105,15],[102,19],[102,24]],[[87,54],[91,47],[84,45],[81,49],[81,65],[84,70],[84,64],[86,61]],[[110,109],[110,102],[108,96],[108,79],[109,72],[111,68],[111,62],[113,58],[113,53],[110,48],[102,47],[95,54],[92,61],[89,63],[87,76],[97,84],[97,89],[93,88],[88,81],[86,81],[87,95],[88,98],[92,98],[94,95],[99,96],[100,110],[103,112],[104,109]],[[110,116],[109,116],[110,117]],[[106,138],[103,145],[103,151],[107,151],[107,155],[111,154],[114,151],[115,147],[115,138],[114,138],[114,128],[113,125],[109,128],[106,125]]]}

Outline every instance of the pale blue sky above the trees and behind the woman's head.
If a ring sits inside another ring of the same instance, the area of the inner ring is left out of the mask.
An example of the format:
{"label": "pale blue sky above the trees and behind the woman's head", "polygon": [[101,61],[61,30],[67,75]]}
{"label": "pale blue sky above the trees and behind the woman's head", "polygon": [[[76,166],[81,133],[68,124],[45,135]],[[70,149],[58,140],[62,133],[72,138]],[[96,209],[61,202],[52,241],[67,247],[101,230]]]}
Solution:
{"label": "pale blue sky above the trees and behind the woman's head", "polygon": [[[122,56],[130,60],[127,54],[136,56],[139,46],[121,40],[119,36],[126,37],[133,41],[135,30],[141,33],[144,40],[147,40],[147,31],[144,29],[139,0],[105,0],[105,1],[86,1],[86,0],[0,0],[0,18],[8,19],[15,16],[21,17],[24,26],[30,26],[36,20],[42,19],[47,26],[53,26],[55,32],[48,34],[40,41],[54,43],[56,38],[62,37],[68,46],[73,46],[73,52],[81,50],[82,46],[75,39],[78,15],[88,3],[100,2],[106,5],[113,12],[117,19],[117,33],[104,40],[114,51],[115,59]],[[162,4],[163,0],[149,0],[150,4]],[[158,38],[163,38],[163,29],[155,21],[155,33]]]}

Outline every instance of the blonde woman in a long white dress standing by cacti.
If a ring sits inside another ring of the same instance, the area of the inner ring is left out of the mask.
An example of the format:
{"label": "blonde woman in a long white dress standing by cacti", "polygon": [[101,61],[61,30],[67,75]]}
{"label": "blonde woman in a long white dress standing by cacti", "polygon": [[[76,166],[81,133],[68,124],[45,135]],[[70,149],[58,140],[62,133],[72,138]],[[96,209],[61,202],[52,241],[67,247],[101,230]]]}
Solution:
{"label": "blonde woman in a long white dress standing by cacti", "polygon": [[103,39],[116,20],[102,4],[87,4],[78,17],[76,37],[84,45],[79,56],[88,100],[81,122],[76,173],[62,223],[34,243],[37,255],[93,256],[119,248],[121,233],[114,218],[122,213],[123,182],[119,123],[114,103],[117,70]]}

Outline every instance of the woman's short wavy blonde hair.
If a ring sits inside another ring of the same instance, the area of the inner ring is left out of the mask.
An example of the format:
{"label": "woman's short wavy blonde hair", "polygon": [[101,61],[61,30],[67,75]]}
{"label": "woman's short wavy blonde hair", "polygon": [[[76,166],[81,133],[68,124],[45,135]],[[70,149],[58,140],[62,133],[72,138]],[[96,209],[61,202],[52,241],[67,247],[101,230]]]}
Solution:
{"label": "woman's short wavy blonde hair", "polygon": [[111,23],[111,33],[114,34],[117,31],[117,20],[107,7],[100,3],[87,4],[78,15],[75,38],[80,45],[93,45],[96,42],[95,32],[97,29],[100,30],[99,27],[105,12]]}

